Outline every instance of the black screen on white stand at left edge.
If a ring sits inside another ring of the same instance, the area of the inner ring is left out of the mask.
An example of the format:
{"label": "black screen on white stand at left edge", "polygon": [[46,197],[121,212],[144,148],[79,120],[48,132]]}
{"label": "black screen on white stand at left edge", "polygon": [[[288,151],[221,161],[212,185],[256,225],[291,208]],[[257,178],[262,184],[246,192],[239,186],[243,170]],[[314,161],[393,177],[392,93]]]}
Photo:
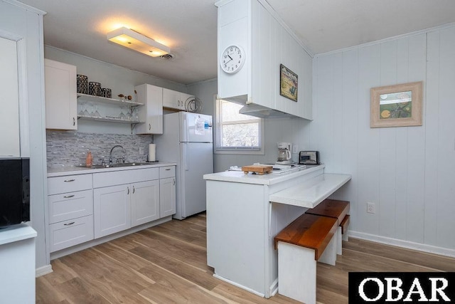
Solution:
{"label": "black screen on white stand at left edge", "polygon": [[30,159],[0,158],[0,227],[30,221]]}

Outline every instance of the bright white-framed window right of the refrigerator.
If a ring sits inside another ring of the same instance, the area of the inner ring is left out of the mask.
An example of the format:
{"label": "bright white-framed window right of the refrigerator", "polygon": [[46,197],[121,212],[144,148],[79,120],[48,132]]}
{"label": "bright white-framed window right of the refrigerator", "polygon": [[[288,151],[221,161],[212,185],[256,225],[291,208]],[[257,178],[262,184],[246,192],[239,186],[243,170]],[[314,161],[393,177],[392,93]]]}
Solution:
{"label": "bright white-framed window right of the refrigerator", "polygon": [[262,118],[239,114],[242,107],[216,100],[215,153],[264,154]]}

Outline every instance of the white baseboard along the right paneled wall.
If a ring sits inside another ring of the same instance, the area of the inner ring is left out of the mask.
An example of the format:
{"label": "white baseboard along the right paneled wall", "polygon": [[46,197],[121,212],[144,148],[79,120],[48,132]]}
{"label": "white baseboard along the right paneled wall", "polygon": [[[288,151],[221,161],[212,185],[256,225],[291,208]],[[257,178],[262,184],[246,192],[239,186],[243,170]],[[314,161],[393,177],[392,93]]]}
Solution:
{"label": "white baseboard along the right paneled wall", "polygon": [[424,251],[427,253],[439,254],[440,256],[450,256],[455,258],[455,250],[449,248],[442,248],[423,243],[415,243],[412,241],[403,241],[399,239],[387,238],[385,236],[376,236],[375,234],[365,234],[363,232],[349,230],[349,237],[355,239],[363,239],[365,241],[374,241],[376,243],[384,243],[386,245],[398,246],[402,248],[413,249],[417,251]]}

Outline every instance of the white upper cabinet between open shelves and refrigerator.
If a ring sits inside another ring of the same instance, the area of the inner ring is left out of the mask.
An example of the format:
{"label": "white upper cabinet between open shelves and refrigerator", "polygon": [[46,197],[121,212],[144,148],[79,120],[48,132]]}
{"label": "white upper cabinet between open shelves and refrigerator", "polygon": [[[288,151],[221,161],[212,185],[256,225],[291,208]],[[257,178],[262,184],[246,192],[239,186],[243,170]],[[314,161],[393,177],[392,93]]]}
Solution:
{"label": "white upper cabinet between open shelves and refrigerator", "polygon": [[163,134],[163,88],[156,85],[137,85],[134,87],[137,101],[144,105],[139,108],[137,134]]}

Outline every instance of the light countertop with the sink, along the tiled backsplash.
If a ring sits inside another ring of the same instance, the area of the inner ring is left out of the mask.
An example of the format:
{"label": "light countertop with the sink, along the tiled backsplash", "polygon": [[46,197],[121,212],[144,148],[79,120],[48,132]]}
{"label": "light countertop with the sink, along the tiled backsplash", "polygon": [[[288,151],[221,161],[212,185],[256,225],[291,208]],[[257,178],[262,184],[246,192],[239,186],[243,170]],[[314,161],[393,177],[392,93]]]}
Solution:
{"label": "light countertop with the sink, along the tiled backsplash", "polygon": [[157,163],[153,163],[153,164],[141,164],[138,166],[111,167],[111,168],[102,168],[102,169],[92,169],[90,167],[62,166],[62,167],[48,168],[48,177],[63,177],[65,175],[75,175],[75,174],[92,174],[92,173],[99,173],[99,172],[158,168],[158,167],[166,167],[166,166],[176,166],[176,164],[177,164],[176,162],[157,162]]}

